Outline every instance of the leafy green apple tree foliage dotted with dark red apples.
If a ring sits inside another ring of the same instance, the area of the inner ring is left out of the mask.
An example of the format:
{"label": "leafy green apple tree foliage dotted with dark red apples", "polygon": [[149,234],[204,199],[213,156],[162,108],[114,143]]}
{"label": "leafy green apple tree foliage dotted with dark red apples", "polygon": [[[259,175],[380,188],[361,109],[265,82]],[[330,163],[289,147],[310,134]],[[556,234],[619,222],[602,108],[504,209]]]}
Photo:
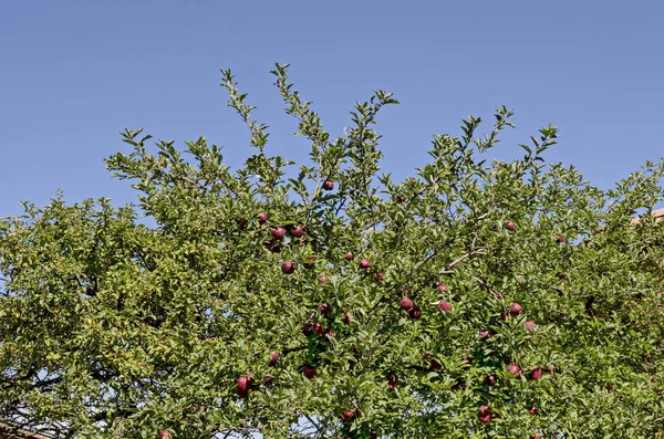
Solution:
{"label": "leafy green apple tree foliage dotted with dark red apples", "polygon": [[662,163],[600,190],[544,164],[548,126],[487,164],[499,107],[395,184],[373,129],[391,94],[331,138],[272,73],[311,143],[298,170],[224,71],[245,167],[126,130],[106,163],[138,207],[59,196],[1,221],[2,418],[59,438],[662,435],[664,224],[630,227]]}

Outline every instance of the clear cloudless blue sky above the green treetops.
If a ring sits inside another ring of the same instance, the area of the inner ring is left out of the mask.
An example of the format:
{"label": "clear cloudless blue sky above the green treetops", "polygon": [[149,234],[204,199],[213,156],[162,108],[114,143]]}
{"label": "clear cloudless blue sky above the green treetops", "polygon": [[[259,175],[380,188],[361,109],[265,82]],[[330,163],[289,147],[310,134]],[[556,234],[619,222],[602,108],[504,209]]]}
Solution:
{"label": "clear cloudless blue sky above the green treetops", "polygon": [[373,90],[402,104],[380,117],[383,169],[427,160],[433,134],[469,114],[515,108],[496,157],[552,123],[547,158],[600,187],[662,154],[664,1],[0,0],[0,216],[19,202],[134,200],[102,159],[143,127],[181,144],[206,135],[228,163],[248,134],[219,69],[271,125],[273,154],[307,158],[268,73],[290,75],[334,134]]}

